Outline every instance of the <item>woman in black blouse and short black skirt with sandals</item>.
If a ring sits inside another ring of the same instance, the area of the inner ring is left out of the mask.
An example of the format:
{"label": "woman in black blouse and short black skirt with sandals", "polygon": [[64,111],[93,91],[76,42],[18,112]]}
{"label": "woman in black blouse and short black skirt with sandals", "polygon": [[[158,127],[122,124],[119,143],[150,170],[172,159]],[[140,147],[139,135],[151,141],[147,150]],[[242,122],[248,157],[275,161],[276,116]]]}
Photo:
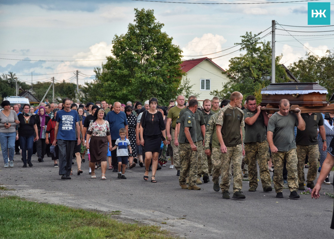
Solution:
{"label": "woman in black blouse and short black skirt with sandals", "polygon": [[144,146],[145,150],[144,180],[148,180],[148,168],[152,160],[151,182],[156,183],[155,173],[158,167],[161,140],[165,145],[167,145],[166,128],[163,116],[161,112],[157,110],[158,100],[156,98],[151,98],[149,105],[150,109],[143,112],[140,120],[140,144]]}

